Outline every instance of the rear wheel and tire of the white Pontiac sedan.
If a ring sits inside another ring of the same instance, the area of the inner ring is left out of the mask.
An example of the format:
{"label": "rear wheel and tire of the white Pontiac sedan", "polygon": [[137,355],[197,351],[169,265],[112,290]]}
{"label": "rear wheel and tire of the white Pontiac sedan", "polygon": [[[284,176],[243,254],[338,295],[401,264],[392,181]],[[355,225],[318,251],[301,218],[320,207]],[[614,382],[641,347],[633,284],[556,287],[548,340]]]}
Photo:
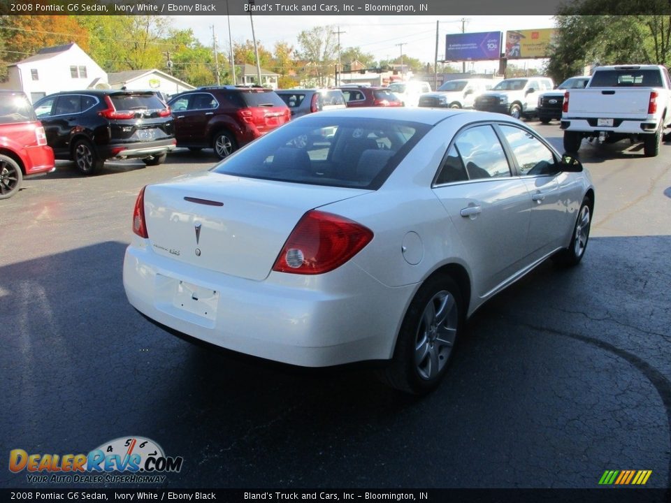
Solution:
{"label": "rear wheel and tire of the white Pontiac sedan", "polygon": [[382,381],[413,395],[435,389],[445,377],[462,323],[459,286],[447,275],[427,279],[405,313],[394,357],[380,372]]}

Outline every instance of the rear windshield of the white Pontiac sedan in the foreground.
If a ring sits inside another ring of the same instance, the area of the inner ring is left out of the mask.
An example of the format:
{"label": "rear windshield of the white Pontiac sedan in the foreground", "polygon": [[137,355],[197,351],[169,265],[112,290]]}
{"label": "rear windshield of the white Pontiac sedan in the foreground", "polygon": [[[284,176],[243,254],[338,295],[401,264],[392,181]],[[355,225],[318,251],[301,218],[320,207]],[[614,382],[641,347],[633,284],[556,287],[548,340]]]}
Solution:
{"label": "rear windshield of the white Pontiac sedan in the foreground", "polygon": [[289,122],[212,168],[281,182],[379,189],[431,126],[361,117]]}

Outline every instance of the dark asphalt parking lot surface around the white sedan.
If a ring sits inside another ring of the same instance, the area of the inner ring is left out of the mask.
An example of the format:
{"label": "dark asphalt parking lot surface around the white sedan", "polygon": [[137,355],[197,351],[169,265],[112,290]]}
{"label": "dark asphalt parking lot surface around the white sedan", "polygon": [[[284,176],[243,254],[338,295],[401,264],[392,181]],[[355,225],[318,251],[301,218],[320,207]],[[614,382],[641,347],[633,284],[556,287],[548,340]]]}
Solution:
{"label": "dark asphalt parking lot surface around the white sedan", "polygon": [[[532,124],[561,150],[555,122]],[[419,400],[361,367],[189,344],[131,308],[138,190],[211,151],[94,177],[59,163],[0,201],[0,455],[142,436],[184,458],[168,488],[594,488],[606,469],[669,487],[671,144],[654,159],[623,146],[581,150],[596,184],[582,264],[546,263],[479,309]],[[0,486],[35,487],[6,468]]]}

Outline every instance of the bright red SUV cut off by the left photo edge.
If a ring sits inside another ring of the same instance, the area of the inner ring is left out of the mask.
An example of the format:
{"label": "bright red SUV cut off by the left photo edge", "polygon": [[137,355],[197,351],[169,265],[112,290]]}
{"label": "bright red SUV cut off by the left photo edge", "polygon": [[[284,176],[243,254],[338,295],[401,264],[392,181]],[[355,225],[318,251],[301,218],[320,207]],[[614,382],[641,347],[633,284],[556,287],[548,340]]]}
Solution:
{"label": "bright red SUV cut off by the left photo edge", "polygon": [[0,90],[0,199],[21,187],[23,175],[54,170],[54,151],[26,95]]}

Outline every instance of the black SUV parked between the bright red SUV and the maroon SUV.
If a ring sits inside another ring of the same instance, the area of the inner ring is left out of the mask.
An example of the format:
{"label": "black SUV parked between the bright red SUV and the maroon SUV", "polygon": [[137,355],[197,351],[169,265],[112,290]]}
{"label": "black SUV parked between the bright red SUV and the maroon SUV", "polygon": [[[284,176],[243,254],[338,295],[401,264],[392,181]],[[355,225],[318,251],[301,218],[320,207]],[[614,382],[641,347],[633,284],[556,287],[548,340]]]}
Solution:
{"label": "black SUV parked between the bright red SUV and the maroon SUV", "polygon": [[152,92],[60,92],[34,107],[56,159],[72,159],[85,175],[105,159],[142,159],[157,166],[175,148],[170,110]]}

